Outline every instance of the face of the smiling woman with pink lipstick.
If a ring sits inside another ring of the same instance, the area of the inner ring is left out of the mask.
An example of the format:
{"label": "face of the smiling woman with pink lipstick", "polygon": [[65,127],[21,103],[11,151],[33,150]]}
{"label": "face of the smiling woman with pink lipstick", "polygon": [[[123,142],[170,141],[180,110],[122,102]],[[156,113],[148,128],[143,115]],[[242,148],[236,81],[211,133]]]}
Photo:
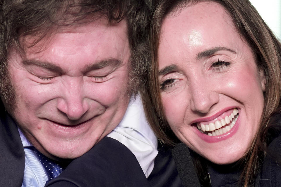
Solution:
{"label": "face of the smiling woman with pink lipstick", "polygon": [[240,159],[257,133],[265,77],[222,6],[202,2],[165,18],[159,73],[178,138],[214,163]]}

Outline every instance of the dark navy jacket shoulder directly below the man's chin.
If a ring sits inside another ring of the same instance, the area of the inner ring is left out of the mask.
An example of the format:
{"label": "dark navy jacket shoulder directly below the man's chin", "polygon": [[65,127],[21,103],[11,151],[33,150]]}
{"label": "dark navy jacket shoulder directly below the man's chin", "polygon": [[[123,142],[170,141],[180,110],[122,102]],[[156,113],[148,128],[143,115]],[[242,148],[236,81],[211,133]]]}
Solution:
{"label": "dark navy jacket shoulder directly below the man's chin", "polygon": [[148,186],[133,153],[122,143],[104,137],[90,151],[73,160],[47,186]]}

